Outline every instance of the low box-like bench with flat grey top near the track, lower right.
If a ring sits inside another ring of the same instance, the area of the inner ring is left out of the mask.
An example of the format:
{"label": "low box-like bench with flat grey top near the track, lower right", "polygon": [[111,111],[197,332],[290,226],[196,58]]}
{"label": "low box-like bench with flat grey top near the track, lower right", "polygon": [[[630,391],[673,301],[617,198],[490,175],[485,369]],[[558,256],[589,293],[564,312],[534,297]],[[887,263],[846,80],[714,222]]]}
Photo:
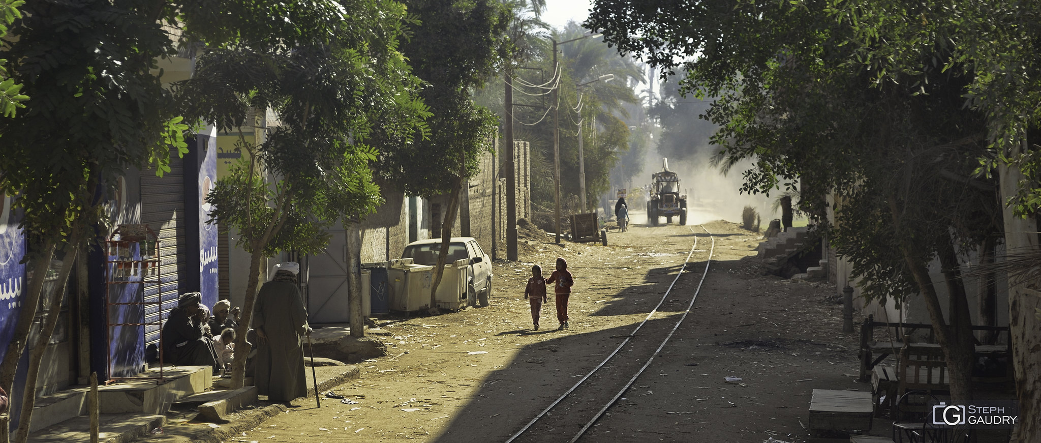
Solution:
{"label": "low box-like bench with flat grey top near the track, lower right", "polygon": [[810,399],[810,430],[867,430],[873,416],[870,392],[814,389]]}

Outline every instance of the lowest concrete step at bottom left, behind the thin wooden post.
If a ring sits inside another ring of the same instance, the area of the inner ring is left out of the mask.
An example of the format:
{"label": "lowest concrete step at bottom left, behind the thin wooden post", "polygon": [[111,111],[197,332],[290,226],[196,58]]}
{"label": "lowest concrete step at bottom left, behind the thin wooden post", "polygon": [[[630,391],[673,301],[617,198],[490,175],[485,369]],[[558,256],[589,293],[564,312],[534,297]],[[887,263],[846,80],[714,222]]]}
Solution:
{"label": "lowest concrete step at bottom left, behind the thin wooden post", "polygon": [[[99,442],[129,443],[167,423],[167,416],[153,414],[101,414]],[[84,432],[84,429],[86,432]],[[91,418],[74,417],[29,435],[29,443],[78,443],[91,441]]]}

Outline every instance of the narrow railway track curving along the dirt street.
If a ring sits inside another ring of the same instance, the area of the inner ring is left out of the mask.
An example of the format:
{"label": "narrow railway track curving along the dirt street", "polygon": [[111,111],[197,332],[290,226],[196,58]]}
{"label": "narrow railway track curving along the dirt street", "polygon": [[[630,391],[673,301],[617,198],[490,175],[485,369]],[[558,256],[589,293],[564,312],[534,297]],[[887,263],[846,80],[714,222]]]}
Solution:
{"label": "narrow railway track curving along the dirt street", "polygon": [[[574,443],[582,438],[607,413],[611,405],[623,398],[644,370],[651,366],[655,356],[659,355],[668,344],[672,335],[687,318],[687,314],[690,314],[690,310],[697,299],[712,263],[712,254],[715,251],[715,238],[712,237],[712,232],[709,232],[704,226],[702,226],[702,230],[708,233],[707,239],[711,242],[711,246],[708,248],[708,255],[704,261],[705,266],[701,278],[693,287],[694,291],[680,298],[681,301],[686,302],[685,310],[674,312],[669,316],[655,316],[660,313],[666,300],[676,301],[676,294],[672,293],[672,290],[677,282],[684,273],[691,272],[688,271],[688,268],[693,265],[690,260],[694,252],[704,252],[704,250],[697,250],[699,237],[696,235],[699,232],[694,232],[693,229],[690,231],[695,235],[694,244],[690,247],[690,252],[687,253],[680,272],[676,274],[661,300],[648,313],[643,321],[628,335],[616,336],[625,340],[600,365],[552,401],[524,427],[511,435],[506,443],[548,441]],[[670,299],[669,296],[674,298]]]}

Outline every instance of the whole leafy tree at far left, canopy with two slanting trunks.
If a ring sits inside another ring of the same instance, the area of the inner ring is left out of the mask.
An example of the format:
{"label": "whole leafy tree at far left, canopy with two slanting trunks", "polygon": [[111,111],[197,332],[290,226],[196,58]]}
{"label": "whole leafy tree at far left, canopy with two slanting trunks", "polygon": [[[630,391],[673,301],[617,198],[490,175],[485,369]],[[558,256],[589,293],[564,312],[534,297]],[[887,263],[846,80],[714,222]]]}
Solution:
{"label": "whole leafy tree at far left, canopy with two slanting trunks", "polygon": [[[14,16],[5,1],[0,16]],[[10,102],[0,118],[2,155],[0,191],[16,195],[24,212],[21,226],[28,239],[29,281],[23,293],[15,336],[0,366],[0,386],[12,392],[19,360],[36,316],[44,278],[56,271],[58,279],[44,299],[48,313],[29,359],[22,415],[17,434],[25,441],[35,398],[35,380],[46,343],[54,330],[65,285],[73,262],[94,226],[103,220],[99,191],[110,191],[125,168],[155,167],[169,171],[171,146],[186,151],[169,94],[149,71],[158,57],[176,48],[159,20],[164,8],[139,2],[34,0],[21,4],[4,41],[10,78],[6,92],[21,95],[24,112],[14,115]],[[11,113],[7,113],[10,110]],[[52,270],[52,257],[60,260]],[[8,423],[0,426],[0,441],[8,438]]]}

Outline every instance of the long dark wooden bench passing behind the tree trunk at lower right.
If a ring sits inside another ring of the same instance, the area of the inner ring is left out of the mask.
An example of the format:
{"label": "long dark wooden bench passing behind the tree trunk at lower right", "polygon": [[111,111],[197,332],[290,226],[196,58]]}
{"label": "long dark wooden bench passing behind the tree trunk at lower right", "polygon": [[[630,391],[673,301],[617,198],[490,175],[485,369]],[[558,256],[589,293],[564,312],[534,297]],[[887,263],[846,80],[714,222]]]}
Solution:
{"label": "long dark wooden bench passing behind the tree trunk at lower right", "polygon": [[[894,340],[875,340],[874,339],[874,328],[875,327],[892,327],[896,329],[896,337]],[[858,355],[860,356],[860,380],[868,382],[871,378],[871,370],[875,365],[882,363],[887,356],[895,354],[903,348],[907,343],[913,342],[913,338],[909,337],[917,331],[928,331],[925,343],[915,343],[917,345],[929,344],[939,347],[936,343],[936,334],[933,331],[933,325],[926,323],[888,323],[874,321],[874,316],[867,316],[864,323],[860,326],[860,350]],[[1009,340],[1009,327],[1008,326],[972,326],[974,333],[983,333],[991,336],[993,342],[998,342],[1000,334],[1005,333],[1005,344],[989,344],[980,343],[976,340],[975,352],[980,355],[1011,355],[1011,340]],[[1011,375],[1011,374],[1010,374]]]}

